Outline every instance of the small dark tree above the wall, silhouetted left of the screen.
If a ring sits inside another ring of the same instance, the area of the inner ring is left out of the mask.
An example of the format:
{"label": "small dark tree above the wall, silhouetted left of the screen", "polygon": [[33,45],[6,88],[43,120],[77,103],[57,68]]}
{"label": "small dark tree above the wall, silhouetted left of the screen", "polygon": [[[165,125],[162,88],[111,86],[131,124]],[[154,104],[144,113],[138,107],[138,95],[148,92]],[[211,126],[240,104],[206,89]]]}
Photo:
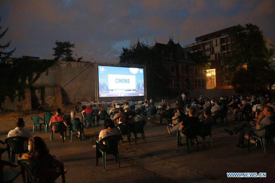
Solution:
{"label": "small dark tree above the wall, silhouetted left of the screen", "polygon": [[63,60],[63,61],[75,61],[75,58],[72,56],[72,49],[75,48],[75,44],[70,43],[69,41],[59,42],[55,41],[56,47],[54,50],[54,60]]}

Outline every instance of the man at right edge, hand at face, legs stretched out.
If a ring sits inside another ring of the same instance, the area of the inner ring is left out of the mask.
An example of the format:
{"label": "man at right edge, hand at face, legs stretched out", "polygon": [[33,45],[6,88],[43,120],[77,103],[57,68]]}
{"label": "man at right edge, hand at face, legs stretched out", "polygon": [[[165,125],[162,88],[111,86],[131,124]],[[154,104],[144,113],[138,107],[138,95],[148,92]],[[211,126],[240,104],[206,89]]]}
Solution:
{"label": "man at right edge, hand at face, legs stretched out", "polygon": [[[275,123],[274,109],[270,106],[265,107],[260,115],[258,115],[258,113],[256,113],[256,118],[257,118],[257,123],[254,123],[253,121],[250,121],[250,122],[243,121],[243,123],[236,126],[233,130],[225,129],[225,131],[231,136],[233,134],[240,133],[239,134],[239,143],[236,144],[237,147],[243,148],[243,141],[244,141],[245,134],[248,135],[250,128],[255,128],[258,130],[264,126]],[[265,135],[265,130],[255,131],[255,134],[258,137],[263,137]],[[253,139],[250,142],[255,143],[255,141],[253,141]]]}

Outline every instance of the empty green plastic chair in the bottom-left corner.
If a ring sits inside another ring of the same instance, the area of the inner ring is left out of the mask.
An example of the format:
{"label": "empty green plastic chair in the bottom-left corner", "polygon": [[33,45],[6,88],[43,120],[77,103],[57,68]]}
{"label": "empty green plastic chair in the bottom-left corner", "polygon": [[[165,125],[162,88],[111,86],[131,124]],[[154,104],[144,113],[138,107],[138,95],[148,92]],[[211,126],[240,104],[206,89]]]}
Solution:
{"label": "empty green plastic chair in the bottom-left corner", "polygon": [[18,164],[0,160],[0,182],[12,183],[21,174],[21,171],[3,171],[5,165],[9,166],[10,168],[15,168],[18,166]]}

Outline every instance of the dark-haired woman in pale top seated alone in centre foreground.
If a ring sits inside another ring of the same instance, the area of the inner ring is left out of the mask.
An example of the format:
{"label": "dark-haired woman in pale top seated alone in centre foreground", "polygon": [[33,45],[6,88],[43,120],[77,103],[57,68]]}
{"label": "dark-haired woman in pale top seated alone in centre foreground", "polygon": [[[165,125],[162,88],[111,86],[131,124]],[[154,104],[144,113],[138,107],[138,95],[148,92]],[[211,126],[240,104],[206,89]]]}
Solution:
{"label": "dark-haired woman in pale top seated alone in centre foreground", "polygon": [[[120,135],[120,132],[117,128],[115,128],[115,125],[113,124],[112,119],[106,118],[104,120],[104,130],[101,130],[99,132],[98,141],[101,141],[102,138],[108,137],[110,135]],[[93,145],[93,147],[95,148],[96,145]],[[102,144],[100,144],[99,148],[102,151],[105,151],[106,150],[106,143],[103,142]]]}

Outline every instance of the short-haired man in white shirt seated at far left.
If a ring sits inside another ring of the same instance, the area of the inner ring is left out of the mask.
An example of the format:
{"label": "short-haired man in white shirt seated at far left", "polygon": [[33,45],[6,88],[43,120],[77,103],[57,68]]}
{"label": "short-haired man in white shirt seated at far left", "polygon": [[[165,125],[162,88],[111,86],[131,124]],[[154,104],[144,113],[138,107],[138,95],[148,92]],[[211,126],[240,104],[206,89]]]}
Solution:
{"label": "short-haired man in white shirt seated at far left", "polygon": [[[8,133],[9,137],[26,137],[26,138],[32,138],[32,134],[29,130],[24,129],[25,127],[25,121],[23,118],[17,118],[15,121],[16,128],[13,130],[10,130]],[[27,141],[24,142],[24,150],[27,150],[28,143]]]}

